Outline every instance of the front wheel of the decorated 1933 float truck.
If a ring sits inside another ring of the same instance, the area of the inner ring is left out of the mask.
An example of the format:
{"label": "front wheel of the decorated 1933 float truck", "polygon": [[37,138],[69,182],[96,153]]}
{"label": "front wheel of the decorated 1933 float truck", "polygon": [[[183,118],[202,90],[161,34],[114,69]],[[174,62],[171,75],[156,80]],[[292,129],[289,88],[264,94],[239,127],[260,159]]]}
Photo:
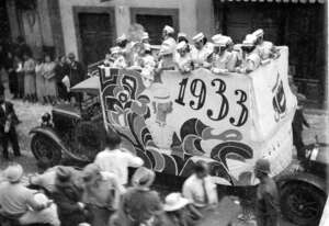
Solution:
{"label": "front wheel of the decorated 1933 float truck", "polygon": [[37,160],[46,160],[52,166],[58,165],[61,159],[60,147],[53,139],[42,134],[32,137],[31,149]]}

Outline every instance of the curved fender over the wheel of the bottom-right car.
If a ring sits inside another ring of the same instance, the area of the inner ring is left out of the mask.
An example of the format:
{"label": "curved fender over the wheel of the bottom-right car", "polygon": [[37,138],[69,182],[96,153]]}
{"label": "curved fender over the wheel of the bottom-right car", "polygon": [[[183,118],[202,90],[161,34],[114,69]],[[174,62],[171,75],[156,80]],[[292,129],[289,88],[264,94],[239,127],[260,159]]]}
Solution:
{"label": "curved fender over the wheel of the bottom-right car", "polygon": [[308,183],[325,192],[325,194],[328,194],[326,180],[308,172],[297,171],[276,178],[276,183],[279,184],[279,188],[283,188],[285,184],[291,182]]}

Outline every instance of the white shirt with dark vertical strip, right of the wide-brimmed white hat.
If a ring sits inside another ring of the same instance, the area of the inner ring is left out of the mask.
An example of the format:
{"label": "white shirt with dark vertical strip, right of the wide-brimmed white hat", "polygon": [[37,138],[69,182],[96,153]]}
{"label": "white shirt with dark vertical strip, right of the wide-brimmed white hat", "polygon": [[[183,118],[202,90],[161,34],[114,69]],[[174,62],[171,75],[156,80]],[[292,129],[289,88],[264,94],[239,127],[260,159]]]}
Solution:
{"label": "white shirt with dark vertical strip, right of the wide-brimmed white hat", "polygon": [[[204,202],[205,194],[203,189],[203,180],[205,180],[208,203]],[[183,184],[183,195],[197,207],[205,207],[206,205],[218,203],[216,184],[212,181],[209,176],[204,179],[197,178],[194,173],[190,176],[190,178],[188,178]]]}

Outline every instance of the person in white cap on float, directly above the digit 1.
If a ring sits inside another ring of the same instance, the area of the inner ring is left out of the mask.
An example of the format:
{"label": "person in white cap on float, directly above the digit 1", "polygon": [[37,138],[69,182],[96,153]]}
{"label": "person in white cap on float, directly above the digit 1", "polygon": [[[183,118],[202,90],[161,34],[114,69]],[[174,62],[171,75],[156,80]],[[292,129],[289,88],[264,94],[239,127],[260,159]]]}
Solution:
{"label": "person in white cap on float, directly above the digit 1", "polygon": [[189,44],[185,41],[180,42],[177,45],[177,57],[175,61],[178,64],[179,70],[182,74],[189,74],[193,70],[192,56],[189,50]]}

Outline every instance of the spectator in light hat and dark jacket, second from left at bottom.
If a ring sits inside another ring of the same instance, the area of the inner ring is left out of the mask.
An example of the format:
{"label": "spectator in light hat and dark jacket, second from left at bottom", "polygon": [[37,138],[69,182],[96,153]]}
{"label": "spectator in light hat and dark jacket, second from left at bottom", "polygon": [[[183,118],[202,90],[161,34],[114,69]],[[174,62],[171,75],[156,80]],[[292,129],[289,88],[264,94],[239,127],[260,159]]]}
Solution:
{"label": "spectator in light hat and dark jacket, second from left at bottom", "polygon": [[56,169],[55,191],[53,199],[58,207],[61,226],[77,226],[88,222],[88,210],[82,203],[82,189],[72,180],[72,171],[67,167]]}

